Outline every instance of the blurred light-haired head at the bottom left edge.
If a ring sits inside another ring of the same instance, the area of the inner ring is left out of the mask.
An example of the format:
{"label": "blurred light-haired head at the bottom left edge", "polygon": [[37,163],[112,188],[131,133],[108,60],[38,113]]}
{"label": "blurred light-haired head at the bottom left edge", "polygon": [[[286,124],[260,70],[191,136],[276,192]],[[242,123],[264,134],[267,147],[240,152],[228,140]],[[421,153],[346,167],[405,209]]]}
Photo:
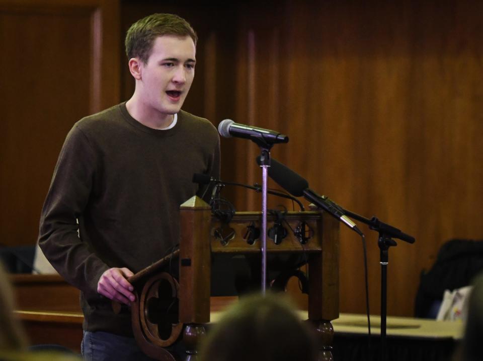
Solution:
{"label": "blurred light-haired head at the bottom left edge", "polygon": [[26,347],[22,325],[14,317],[14,293],[9,277],[0,264],[0,350],[23,350]]}

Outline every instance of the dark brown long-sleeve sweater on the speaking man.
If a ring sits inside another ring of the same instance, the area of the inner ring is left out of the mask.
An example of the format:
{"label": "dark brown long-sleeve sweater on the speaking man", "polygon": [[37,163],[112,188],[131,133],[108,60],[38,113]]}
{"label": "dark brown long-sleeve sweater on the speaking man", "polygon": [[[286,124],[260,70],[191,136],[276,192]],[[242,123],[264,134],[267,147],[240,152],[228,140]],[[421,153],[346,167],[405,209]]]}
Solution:
{"label": "dark brown long-sleeve sweater on the speaking man", "polygon": [[219,178],[219,168],[216,128],[184,111],[167,130],[142,125],[125,103],[73,126],[42,209],[39,245],[81,290],[85,330],[132,335],[129,313],[115,315],[97,293],[100,276],[110,267],[135,273],[178,244],[179,206],[200,191],[193,174]]}

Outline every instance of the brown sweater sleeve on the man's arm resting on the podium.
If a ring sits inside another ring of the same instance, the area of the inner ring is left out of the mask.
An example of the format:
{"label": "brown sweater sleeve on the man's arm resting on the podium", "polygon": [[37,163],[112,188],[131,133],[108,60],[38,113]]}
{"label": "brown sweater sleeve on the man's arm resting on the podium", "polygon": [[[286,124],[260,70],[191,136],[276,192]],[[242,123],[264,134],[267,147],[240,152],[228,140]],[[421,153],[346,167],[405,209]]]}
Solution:
{"label": "brown sweater sleeve on the man's arm resting on the podium", "polygon": [[78,236],[77,220],[88,204],[98,165],[89,139],[75,125],[67,134],[40,217],[39,246],[65,280],[88,298],[109,266]]}

